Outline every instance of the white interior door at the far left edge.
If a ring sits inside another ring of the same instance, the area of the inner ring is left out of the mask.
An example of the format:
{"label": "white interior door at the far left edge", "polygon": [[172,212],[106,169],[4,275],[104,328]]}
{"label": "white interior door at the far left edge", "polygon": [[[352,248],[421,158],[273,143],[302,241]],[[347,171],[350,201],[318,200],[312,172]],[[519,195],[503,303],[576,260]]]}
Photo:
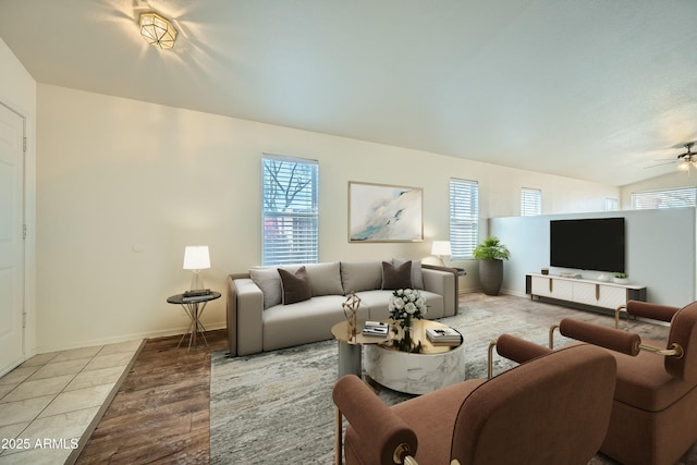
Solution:
{"label": "white interior door at the far left edge", "polygon": [[24,362],[24,120],[0,103],[0,376]]}

